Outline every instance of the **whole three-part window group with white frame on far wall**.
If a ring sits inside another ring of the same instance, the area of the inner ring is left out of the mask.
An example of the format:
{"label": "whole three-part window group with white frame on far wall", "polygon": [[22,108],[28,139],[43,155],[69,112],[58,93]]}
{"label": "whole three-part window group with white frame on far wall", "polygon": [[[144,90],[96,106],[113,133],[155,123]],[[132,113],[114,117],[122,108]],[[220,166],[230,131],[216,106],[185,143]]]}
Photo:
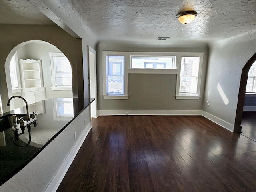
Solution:
{"label": "whole three-part window group with white frame on far wall", "polygon": [[177,74],[176,99],[199,99],[203,53],[103,52],[103,98],[128,99],[128,74]]}

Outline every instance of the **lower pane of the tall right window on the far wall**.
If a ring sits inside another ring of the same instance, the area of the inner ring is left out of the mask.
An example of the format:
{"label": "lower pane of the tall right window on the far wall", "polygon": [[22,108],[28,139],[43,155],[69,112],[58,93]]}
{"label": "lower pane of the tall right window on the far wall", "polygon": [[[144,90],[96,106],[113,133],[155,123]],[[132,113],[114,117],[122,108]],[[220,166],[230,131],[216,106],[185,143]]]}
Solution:
{"label": "lower pane of the tall right window on the far wall", "polygon": [[197,80],[196,77],[180,78],[180,93],[196,93]]}

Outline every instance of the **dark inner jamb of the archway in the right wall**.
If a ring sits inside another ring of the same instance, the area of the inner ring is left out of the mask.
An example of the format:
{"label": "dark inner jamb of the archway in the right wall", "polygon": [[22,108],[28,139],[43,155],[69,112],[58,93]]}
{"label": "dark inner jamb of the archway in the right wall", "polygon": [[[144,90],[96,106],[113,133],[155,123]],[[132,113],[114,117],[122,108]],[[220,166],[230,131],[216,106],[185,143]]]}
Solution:
{"label": "dark inner jamb of the archway in the right wall", "polygon": [[245,92],[246,92],[246,84],[248,79],[248,72],[252,66],[252,64],[256,61],[256,53],[248,60],[245,64],[244,68],[242,69],[241,74],[241,81],[238,93],[238,102],[236,108],[236,119],[235,119],[235,129],[234,132],[241,132],[242,126],[242,115],[243,115],[243,108],[244,108],[244,99],[245,99]]}

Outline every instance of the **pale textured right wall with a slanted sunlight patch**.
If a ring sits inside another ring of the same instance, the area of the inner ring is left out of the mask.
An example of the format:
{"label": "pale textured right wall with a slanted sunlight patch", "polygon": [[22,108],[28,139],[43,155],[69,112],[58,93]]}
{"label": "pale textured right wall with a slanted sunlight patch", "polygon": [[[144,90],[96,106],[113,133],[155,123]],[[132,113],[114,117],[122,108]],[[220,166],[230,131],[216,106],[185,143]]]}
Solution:
{"label": "pale textured right wall with a slanted sunlight patch", "polygon": [[[242,69],[255,52],[255,34],[210,46],[203,105],[205,112],[234,125]],[[217,89],[218,83],[228,98],[227,105]]]}

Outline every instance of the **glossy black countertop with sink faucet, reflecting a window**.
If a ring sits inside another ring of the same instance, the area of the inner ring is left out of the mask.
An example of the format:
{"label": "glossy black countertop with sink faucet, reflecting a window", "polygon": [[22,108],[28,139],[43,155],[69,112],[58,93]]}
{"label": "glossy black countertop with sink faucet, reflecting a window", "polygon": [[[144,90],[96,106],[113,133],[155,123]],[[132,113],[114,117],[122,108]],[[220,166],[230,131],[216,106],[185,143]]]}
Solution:
{"label": "glossy black countertop with sink faucet, reflecting a window", "polygon": [[[2,127],[0,132],[0,184],[4,184],[12,176],[24,168],[37,154],[40,153],[58,134],[60,134],[94,98],[50,98],[29,105],[30,114],[37,111],[37,125],[31,126],[31,142],[28,146],[16,146],[12,140],[12,128]],[[18,108],[0,115],[0,120],[12,114],[26,114],[26,107]],[[18,131],[22,131],[19,129]],[[25,145],[29,141],[28,128],[19,136],[17,141]]]}

